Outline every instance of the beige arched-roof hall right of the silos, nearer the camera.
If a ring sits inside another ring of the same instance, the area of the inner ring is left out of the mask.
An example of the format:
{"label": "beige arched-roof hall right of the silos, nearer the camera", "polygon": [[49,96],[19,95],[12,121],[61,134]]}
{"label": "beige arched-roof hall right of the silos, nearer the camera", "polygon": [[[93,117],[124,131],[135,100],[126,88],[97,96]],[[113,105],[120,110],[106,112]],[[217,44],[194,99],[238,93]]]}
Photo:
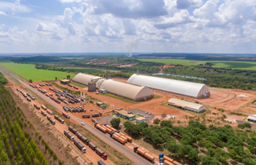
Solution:
{"label": "beige arched-roof hall right of the silos, nearer the camera", "polygon": [[105,89],[108,93],[133,101],[145,101],[154,98],[154,93],[148,87],[136,86],[114,80],[102,80],[97,88]]}

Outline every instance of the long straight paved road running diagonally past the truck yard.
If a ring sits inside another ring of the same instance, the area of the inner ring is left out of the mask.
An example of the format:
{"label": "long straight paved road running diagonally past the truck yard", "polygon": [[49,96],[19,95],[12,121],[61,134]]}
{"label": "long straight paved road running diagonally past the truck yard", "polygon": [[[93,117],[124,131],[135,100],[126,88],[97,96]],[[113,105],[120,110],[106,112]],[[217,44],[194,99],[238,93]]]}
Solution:
{"label": "long straight paved road running diagonally past the truck yard", "polygon": [[[0,67],[2,71],[5,71],[7,74],[9,74],[11,77],[14,77],[15,80],[19,81],[23,84],[23,86],[26,86],[26,88],[30,89],[32,92],[35,92],[36,95],[47,101],[49,104],[53,105],[53,107],[56,108],[56,110],[59,110],[59,112],[62,112],[62,108],[59,106],[59,104],[56,104],[55,101],[48,98],[46,95],[43,95],[41,92],[38,92],[38,90],[33,89],[31,86],[24,83],[22,80],[15,77],[13,74],[6,71],[4,68]],[[83,120],[81,118],[78,118],[72,113],[69,113],[70,117],[77,121],[78,123],[81,123]],[[84,127],[86,127],[87,130],[89,130],[94,135],[98,136],[99,139],[102,139],[104,142],[108,143],[108,145],[111,145],[111,147],[115,148],[117,151],[120,151],[121,154],[124,154],[126,157],[128,157],[130,160],[133,160],[136,164],[139,165],[148,165],[151,164],[148,160],[145,160],[143,157],[139,156],[138,154],[134,153],[133,151],[130,151],[130,149],[126,148],[125,146],[121,145],[119,142],[117,142],[114,139],[111,139],[110,136],[105,136],[101,131],[97,130],[95,127],[91,126],[90,124],[87,124],[87,122],[84,122]]]}

